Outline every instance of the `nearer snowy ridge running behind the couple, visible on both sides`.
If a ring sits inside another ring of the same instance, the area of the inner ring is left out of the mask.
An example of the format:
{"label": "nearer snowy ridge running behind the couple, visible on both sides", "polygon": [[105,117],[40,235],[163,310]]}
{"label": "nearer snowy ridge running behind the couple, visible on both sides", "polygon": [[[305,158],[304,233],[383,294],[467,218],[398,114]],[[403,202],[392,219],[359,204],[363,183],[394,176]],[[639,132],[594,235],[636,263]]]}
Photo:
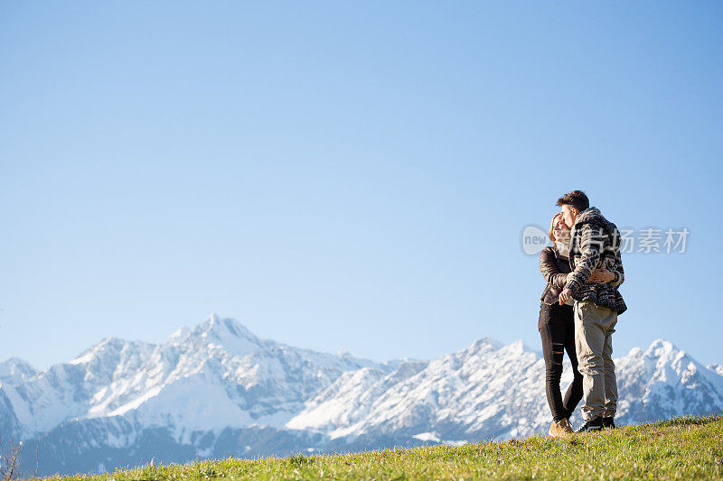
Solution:
{"label": "nearer snowy ridge running behind the couple, visible on both sides", "polygon": [[[668,341],[654,341],[644,352],[633,349],[615,362],[621,421],[723,412],[723,377],[701,369]],[[420,432],[440,439],[505,439],[544,432],[549,425],[544,361],[521,341],[496,347],[481,339],[417,367],[384,377],[343,375],[286,427],[318,430],[332,439],[370,433],[414,438]],[[563,385],[571,377],[566,362]]]}

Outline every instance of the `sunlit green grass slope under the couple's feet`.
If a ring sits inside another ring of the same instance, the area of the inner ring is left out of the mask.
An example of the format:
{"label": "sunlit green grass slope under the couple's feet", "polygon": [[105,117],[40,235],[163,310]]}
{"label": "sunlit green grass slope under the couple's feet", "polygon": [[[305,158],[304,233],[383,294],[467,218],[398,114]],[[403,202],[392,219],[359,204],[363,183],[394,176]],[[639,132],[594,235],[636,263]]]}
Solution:
{"label": "sunlit green grass slope under the couple's feet", "polygon": [[723,477],[723,416],[575,435],[335,456],[223,459],[64,479],[650,479]]}

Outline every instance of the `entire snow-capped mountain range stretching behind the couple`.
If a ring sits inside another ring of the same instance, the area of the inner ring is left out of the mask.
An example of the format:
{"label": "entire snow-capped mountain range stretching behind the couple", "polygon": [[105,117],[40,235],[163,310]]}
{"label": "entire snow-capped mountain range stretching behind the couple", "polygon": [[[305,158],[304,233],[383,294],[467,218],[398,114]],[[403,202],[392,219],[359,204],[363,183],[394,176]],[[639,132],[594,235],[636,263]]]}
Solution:
{"label": "entire snow-capped mountain range stretching behind the couple", "polygon": [[[620,422],[723,412],[719,365],[662,340],[615,362]],[[519,341],[379,364],[259,339],[211,315],[160,345],[106,338],[40,373],[20,359],[0,364],[0,434],[37,447],[41,475],[459,444],[548,426],[544,362]]]}

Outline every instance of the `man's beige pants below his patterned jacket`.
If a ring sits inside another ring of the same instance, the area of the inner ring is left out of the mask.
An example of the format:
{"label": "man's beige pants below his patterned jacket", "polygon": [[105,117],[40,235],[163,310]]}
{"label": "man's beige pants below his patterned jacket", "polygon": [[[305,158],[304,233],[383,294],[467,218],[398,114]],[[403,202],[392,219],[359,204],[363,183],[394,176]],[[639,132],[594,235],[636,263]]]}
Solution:
{"label": "man's beige pants below his patterned jacket", "polygon": [[617,381],[613,363],[613,333],[617,312],[591,301],[575,301],[575,347],[577,370],[583,376],[582,416],[615,416]]}

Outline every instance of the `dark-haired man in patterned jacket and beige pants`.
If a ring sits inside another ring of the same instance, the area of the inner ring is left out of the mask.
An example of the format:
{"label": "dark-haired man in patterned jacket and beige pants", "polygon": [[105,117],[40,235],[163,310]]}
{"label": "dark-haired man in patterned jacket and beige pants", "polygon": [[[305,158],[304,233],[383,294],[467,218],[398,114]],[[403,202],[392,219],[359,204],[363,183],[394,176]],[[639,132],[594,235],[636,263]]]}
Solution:
{"label": "dark-haired man in patterned jacket and beige pants", "polygon": [[[559,295],[559,303],[575,300],[575,346],[577,369],[583,376],[582,415],[585,424],[577,430],[615,428],[617,381],[613,362],[612,335],[617,316],[627,307],[617,288],[624,281],[620,257],[620,233],[597,208],[590,207],[585,192],[574,190],[558,199],[570,231],[571,273]],[[614,273],[609,282],[586,283],[593,271]]]}

